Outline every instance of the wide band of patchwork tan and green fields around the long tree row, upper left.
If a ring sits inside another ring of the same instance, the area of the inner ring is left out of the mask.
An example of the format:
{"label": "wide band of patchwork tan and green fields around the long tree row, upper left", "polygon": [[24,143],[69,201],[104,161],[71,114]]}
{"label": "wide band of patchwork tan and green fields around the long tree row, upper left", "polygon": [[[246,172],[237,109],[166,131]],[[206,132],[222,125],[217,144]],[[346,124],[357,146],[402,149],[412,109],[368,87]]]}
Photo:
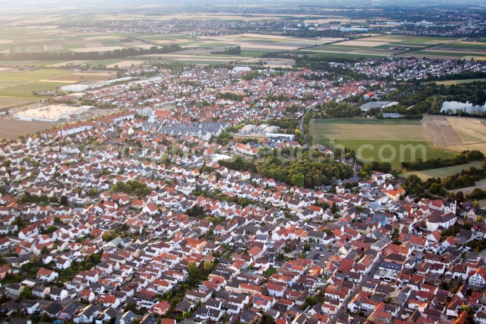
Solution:
{"label": "wide band of patchwork tan and green fields around the long tree row, upper left", "polygon": [[[221,17],[220,17],[221,18]],[[5,32],[5,33],[4,33]],[[64,67],[75,64],[89,64],[90,66],[106,66],[108,68],[139,65],[148,59],[158,60],[162,63],[189,63],[189,64],[221,64],[252,59],[266,53],[282,51],[296,51],[330,42],[342,38],[301,38],[290,36],[273,36],[242,33],[237,35],[219,36],[191,36],[181,33],[167,34],[136,34],[116,32],[86,32],[72,31],[57,28],[46,28],[40,31],[30,29],[0,30],[4,37],[0,44],[3,53],[88,53],[116,51],[122,49],[148,50],[151,47],[178,45],[184,50],[201,50],[201,56],[207,56],[214,51],[223,51],[229,47],[240,46],[241,55],[215,57],[186,56],[185,51],[171,53],[171,56],[160,54],[145,54],[130,58],[114,58],[104,60],[22,60],[0,61],[0,66],[35,66],[35,67]],[[36,37],[34,36],[36,35]],[[30,38],[32,36],[32,38]],[[3,47],[1,47],[3,46]],[[198,56],[199,56],[198,55]]]}

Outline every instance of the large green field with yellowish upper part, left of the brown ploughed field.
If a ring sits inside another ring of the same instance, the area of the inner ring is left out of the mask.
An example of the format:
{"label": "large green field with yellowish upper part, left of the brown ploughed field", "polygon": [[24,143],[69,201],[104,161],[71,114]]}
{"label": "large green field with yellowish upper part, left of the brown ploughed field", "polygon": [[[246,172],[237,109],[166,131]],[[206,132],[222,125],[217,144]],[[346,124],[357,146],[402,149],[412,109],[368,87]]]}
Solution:
{"label": "large green field with yellowish upper part, left of the brown ploughed field", "polygon": [[[362,162],[367,159],[390,162],[393,168],[399,168],[402,161],[412,160],[412,150],[407,148],[410,144],[414,146],[415,159],[449,158],[454,155],[434,147],[422,122],[418,120],[318,119],[311,124],[311,134],[314,144],[327,147],[331,143],[344,145],[355,150]],[[422,148],[425,156],[422,156]]]}

